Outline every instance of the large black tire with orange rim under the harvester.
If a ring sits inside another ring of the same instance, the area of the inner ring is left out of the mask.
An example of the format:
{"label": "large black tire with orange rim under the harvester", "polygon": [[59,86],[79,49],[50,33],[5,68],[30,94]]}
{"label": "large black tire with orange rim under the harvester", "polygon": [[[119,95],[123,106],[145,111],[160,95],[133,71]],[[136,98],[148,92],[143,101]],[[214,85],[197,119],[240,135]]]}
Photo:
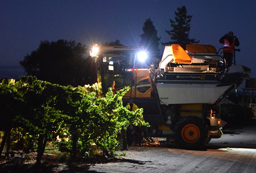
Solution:
{"label": "large black tire with orange rim under the harvester", "polygon": [[177,144],[187,150],[204,147],[209,136],[207,124],[201,118],[188,116],[177,122],[174,128],[174,138]]}

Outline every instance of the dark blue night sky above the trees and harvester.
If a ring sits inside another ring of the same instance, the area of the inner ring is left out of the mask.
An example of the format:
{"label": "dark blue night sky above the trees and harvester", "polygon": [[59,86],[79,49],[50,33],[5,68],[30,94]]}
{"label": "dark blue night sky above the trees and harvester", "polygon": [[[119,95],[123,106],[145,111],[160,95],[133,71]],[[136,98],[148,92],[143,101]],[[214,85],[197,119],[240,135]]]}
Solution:
{"label": "dark blue night sky above the trees and harvester", "polygon": [[[23,75],[19,61],[40,41],[75,40],[86,46],[119,39],[137,46],[151,18],[161,42],[170,41],[177,7],[192,15],[190,38],[212,44],[228,31],[239,38],[237,63],[256,78],[256,0],[0,0],[0,77]],[[164,46],[160,44],[160,53]]]}

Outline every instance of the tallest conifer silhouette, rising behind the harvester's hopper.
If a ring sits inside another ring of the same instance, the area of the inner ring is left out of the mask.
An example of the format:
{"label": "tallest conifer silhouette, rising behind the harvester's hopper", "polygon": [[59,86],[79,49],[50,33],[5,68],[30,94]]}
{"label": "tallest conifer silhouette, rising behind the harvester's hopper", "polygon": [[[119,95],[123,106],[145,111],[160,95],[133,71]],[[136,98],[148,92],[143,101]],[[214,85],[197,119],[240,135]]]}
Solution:
{"label": "tallest conifer silhouette, rising behind the harvester's hopper", "polygon": [[195,41],[195,39],[189,38],[190,21],[192,19],[192,15],[187,15],[186,7],[182,6],[181,8],[177,8],[175,15],[175,20],[170,19],[171,27],[173,29],[170,31],[166,30],[166,32],[171,35],[171,40],[173,41],[162,44],[170,45],[199,43],[200,40]]}

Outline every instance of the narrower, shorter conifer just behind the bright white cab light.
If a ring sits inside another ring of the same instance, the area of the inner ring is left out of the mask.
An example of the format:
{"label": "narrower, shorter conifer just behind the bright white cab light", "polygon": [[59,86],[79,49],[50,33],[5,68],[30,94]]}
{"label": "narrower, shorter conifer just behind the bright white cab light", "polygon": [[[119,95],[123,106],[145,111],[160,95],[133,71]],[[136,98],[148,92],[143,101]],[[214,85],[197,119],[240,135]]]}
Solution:
{"label": "narrower, shorter conifer just behind the bright white cab light", "polygon": [[155,29],[153,22],[150,18],[146,19],[143,26],[143,34],[141,37],[141,46],[150,52],[149,56],[151,61],[159,57],[159,41],[161,37],[157,37],[157,30]]}

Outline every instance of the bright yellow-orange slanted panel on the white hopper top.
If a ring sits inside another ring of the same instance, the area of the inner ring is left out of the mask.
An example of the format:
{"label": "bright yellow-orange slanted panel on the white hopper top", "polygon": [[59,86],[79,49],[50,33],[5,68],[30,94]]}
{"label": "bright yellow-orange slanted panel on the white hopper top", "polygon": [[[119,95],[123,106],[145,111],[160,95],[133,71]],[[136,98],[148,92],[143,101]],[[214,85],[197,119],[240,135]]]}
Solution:
{"label": "bright yellow-orange slanted panel on the white hopper top", "polygon": [[172,44],[172,55],[175,63],[192,63],[192,58],[179,44]]}

